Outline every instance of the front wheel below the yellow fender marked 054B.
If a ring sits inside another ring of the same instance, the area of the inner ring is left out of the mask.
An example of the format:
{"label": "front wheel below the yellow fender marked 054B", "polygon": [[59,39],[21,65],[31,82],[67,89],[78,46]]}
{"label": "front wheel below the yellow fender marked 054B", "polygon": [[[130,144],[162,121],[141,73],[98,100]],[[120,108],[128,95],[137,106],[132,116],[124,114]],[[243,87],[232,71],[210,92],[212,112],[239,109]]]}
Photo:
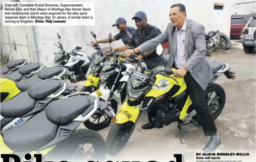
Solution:
{"label": "front wheel below the yellow fender marked 054B", "polygon": [[128,142],[133,132],[135,123],[128,121],[122,124],[114,123],[106,138],[107,154],[117,155]]}

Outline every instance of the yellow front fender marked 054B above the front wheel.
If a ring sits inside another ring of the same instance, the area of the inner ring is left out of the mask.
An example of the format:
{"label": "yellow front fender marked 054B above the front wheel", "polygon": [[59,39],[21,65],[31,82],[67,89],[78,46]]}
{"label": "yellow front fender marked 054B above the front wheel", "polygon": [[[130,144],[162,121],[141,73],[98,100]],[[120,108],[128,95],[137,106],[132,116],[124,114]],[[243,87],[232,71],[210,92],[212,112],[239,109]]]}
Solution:
{"label": "yellow front fender marked 054B above the front wheel", "polygon": [[135,123],[139,115],[139,108],[129,106],[127,102],[124,102],[119,112],[117,113],[115,122],[118,124],[132,121]]}

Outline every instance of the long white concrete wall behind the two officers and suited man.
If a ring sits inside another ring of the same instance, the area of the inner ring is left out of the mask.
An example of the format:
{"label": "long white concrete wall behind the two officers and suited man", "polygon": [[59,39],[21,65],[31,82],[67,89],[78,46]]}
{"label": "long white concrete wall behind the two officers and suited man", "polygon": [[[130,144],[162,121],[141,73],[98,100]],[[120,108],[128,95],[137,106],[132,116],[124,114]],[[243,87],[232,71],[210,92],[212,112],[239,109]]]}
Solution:
{"label": "long white concrete wall behind the two officers and suited man", "polygon": [[[128,26],[135,26],[132,17],[137,11],[144,11],[148,16],[148,23],[158,27],[162,32],[166,29],[169,20],[170,6],[183,3],[187,9],[187,19],[193,19],[205,26],[205,31],[223,32],[230,35],[230,16],[233,12],[232,1],[95,1],[95,26],[36,26],[36,42],[39,50],[39,60],[46,66],[52,66],[55,55],[59,49],[53,44],[61,35],[61,42],[68,52],[81,46],[88,55],[95,52],[87,43],[94,41],[90,34],[93,31],[97,39],[106,39],[111,32],[112,36],[118,30],[112,24],[119,17],[124,17]],[[214,10],[214,3],[224,3],[223,10]],[[218,25],[219,24],[219,25]],[[107,47],[108,44],[100,44]],[[122,46],[121,40],[111,44],[113,47]]]}

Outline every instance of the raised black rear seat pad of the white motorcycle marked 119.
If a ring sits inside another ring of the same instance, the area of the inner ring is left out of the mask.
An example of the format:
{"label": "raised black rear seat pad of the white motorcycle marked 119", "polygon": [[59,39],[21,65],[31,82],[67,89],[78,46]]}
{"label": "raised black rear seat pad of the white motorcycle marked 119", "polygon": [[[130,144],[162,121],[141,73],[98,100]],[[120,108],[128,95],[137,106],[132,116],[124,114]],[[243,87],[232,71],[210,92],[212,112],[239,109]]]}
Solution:
{"label": "raised black rear seat pad of the white motorcycle marked 119", "polygon": [[[62,82],[65,82],[65,81],[62,81]],[[42,100],[45,97],[49,96],[50,94],[54,93],[60,87],[61,87],[61,81],[46,80],[43,82],[34,83],[33,85],[29,86],[29,88],[27,89],[27,92],[32,99]]]}

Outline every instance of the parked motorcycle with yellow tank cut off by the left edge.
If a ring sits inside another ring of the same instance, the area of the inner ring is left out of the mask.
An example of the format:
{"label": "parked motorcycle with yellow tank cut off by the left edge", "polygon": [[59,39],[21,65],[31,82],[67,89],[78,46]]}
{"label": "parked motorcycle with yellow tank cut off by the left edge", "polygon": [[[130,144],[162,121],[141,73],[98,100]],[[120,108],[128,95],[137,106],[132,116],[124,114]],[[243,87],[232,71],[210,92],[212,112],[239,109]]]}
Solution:
{"label": "parked motorcycle with yellow tank cut off by the left edge", "polygon": [[[29,65],[29,64],[28,64]],[[23,65],[25,66],[25,65]],[[7,101],[15,97],[21,92],[26,91],[30,85],[51,79],[62,79],[73,75],[73,72],[69,72],[64,67],[45,67],[39,70],[36,74],[29,73],[24,75],[24,78],[18,82],[15,82],[10,77],[1,74],[1,102]],[[63,93],[67,95],[68,93]]]}

